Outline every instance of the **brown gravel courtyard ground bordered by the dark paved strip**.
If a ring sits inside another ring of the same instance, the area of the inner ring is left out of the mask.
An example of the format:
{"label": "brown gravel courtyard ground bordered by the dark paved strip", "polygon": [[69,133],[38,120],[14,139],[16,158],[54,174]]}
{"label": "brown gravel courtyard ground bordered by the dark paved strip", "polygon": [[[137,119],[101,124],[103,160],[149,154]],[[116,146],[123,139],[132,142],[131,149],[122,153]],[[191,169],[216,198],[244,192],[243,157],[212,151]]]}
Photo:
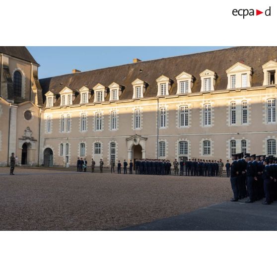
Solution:
{"label": "brown gravel courtyard ground bordered by the dark paved strip", "polygon": [[228,201],[228,178],[0,168],[0,230],[119,230]]}

